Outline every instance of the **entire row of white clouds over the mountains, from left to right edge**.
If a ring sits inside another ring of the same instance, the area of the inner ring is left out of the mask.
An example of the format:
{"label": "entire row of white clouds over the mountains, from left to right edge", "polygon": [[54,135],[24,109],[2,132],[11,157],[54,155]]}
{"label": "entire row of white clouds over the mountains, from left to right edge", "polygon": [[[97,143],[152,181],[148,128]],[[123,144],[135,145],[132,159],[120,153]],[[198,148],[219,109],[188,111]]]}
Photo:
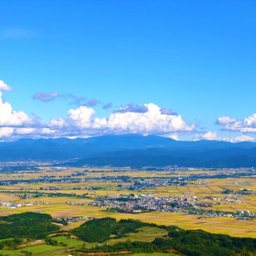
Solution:
{"label": "entire row of white clouds over the mountains, from left to right edge", "polygon": [[103,104],[96,99],[77,97],[73,94],[58,92],[39,92],[33,99],[50,102],[57,98],[68,99],[69,104],[78,105],[70,109],[63,117],[52,117],[45,122],[36,114],[30,117],[23,110],[14,111],[10,103],[5,102],[2,94],[12,88],[0,80],[0,138],[14,140],[19,138],[87,138],[106,134],[141,134],[162,135],[178,139],[180,135],[194,135],[194,140],[220,140],[229,142],[256,141],[247,133],[256,133],[256,114],[243,120],[228,116],[219,117],[216,124],[223,126],[222,130],[243,133],[240,136],[221,137],[217,132],[196,131],[195,124],[188,124],[184,118],[171,109],[160,108],[154,103],[129,103],[115,109],[109,116],[99,118],[93,106],[102,104],[102,108],[112,108],[112,103]]}

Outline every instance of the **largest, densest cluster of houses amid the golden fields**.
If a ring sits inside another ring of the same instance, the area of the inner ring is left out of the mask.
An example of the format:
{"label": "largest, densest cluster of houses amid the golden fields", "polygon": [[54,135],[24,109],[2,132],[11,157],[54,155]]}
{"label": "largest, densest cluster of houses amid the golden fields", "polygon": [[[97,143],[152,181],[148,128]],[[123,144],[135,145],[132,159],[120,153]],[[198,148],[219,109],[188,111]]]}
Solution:
{"label": "largest, densest cluster of houses amid the golden fields", "polygon": [[[212,204],[220,204],[220,201],[241,203],[237,197],[205,197],[177,196],[159,197],[154,194],[125,194],[119,198],[104,197],[100,200],[90,202],[89,205],[108,206],[112,209],[130,213],[144,211],[178,212],[181,214],[196,214],[209,217],[236,217],[246,219],[244,216],[237,216],[234,212],[214,211],[209,209]],[[254,217],[255,215],[248,215]]]}

